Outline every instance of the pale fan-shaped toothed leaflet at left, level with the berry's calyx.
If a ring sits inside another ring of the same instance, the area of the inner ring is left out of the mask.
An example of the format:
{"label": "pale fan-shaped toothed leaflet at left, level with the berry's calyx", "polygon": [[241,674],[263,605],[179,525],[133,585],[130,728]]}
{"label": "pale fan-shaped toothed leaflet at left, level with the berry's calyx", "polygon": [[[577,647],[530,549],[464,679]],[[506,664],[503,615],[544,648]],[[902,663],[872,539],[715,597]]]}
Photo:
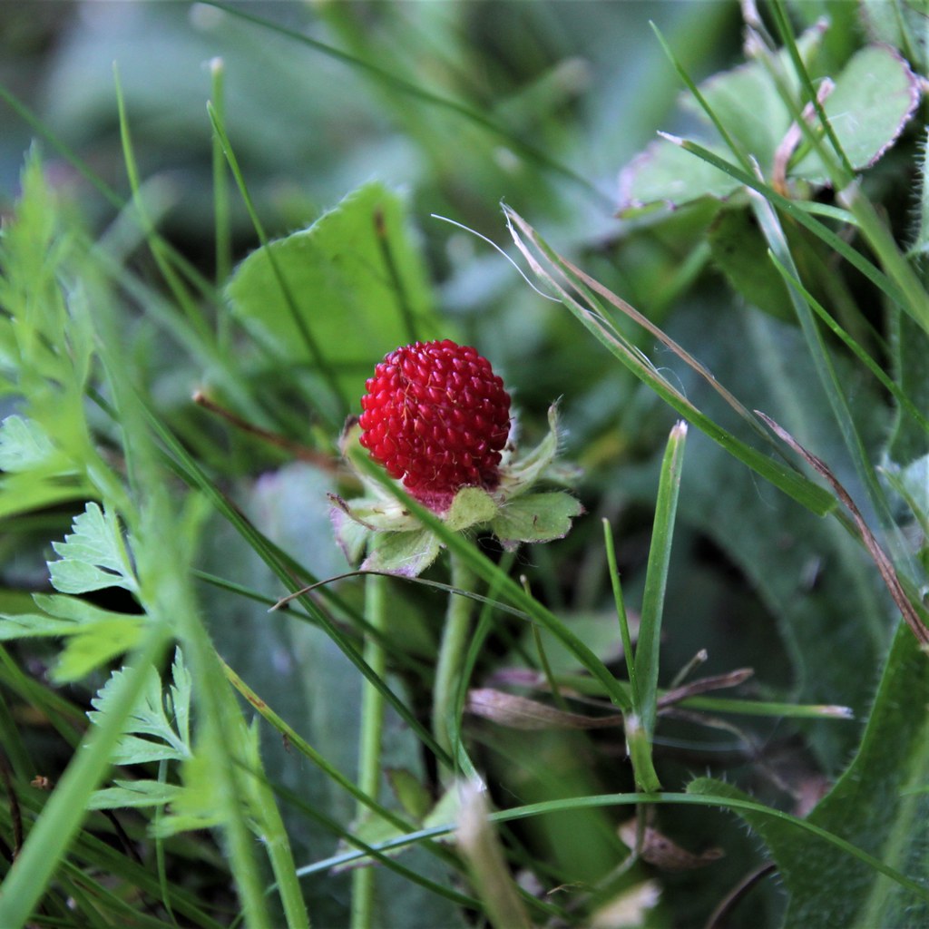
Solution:
{"label": "pale fan-shaped toothed leaflet at left, level with the berry's calyx", "polygon": [[99,504],[89,503],[74,517],[73,532],[64,542],[52,543],[59,561],[50,561],[52,584],[62,594],[85,594],[107,587],[137,593],[133,569],[126,554],[119,522]]}

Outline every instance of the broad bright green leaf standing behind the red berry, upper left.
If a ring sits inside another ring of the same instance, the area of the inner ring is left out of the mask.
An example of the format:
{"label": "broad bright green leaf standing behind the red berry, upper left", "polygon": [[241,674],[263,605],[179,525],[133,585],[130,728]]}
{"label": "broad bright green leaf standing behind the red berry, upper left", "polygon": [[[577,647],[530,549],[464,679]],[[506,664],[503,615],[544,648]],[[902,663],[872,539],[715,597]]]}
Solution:
{"label": "broad bright green leaf standing behind the red berry, upper left", "polygon": [[[439,334],[425,270],[404,224],[397,194],[370,183],[308,229],[268,246],[348,397],[360,396],[373,360]],[[283,360],[307,362],[305,340],[264,249],[236,269],[229,298],[236,315]]]}

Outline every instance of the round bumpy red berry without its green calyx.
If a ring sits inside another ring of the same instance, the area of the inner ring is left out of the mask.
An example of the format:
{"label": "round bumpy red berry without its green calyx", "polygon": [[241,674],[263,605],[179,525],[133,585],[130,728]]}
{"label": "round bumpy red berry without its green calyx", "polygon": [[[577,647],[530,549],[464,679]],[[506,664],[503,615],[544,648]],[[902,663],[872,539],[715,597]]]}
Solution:
{"label": "round bumpy red berry without its green calyx", "polygon": [[497,486],[510,397],[474,348],[449,339],[397,348],[365,388],[361,445],[417,500],[442,511],[463,487]]}

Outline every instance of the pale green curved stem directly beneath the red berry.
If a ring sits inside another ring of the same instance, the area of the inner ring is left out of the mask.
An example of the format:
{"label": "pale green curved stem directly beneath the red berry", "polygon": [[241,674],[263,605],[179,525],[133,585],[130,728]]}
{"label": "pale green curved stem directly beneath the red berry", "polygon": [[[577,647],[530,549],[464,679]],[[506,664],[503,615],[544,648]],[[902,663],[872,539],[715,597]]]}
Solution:
{"label": "pale green curved stem directly beneath the red berry", "polygon": [[[476,578],[464,559],[451,553],[451,586],[457,590],[470,591]],[[464,654],[471,630],[470,597],[451,594],[445,614],[445,629],[438,649],[436,687],[432,701],[432,732],[441,748],[454,759],[457,755],[451,744],[452,733],[457,729],[452,718],[456,706],[458,687],[461,683]]]}

